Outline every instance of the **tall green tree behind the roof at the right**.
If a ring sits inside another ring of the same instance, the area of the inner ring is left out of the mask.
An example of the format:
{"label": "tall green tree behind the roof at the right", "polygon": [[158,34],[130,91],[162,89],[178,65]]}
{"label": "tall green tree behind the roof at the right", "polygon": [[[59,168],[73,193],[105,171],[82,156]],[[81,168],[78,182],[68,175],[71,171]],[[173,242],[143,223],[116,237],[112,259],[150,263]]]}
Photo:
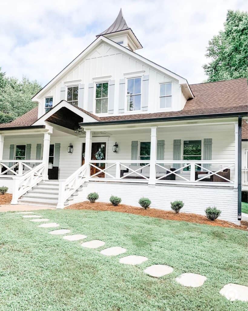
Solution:
{"label": "tall green tree behind the roof at the right", "polygon": [[224,30],[209,41],[208,82],[248,77],[248,13],[228,11]]}

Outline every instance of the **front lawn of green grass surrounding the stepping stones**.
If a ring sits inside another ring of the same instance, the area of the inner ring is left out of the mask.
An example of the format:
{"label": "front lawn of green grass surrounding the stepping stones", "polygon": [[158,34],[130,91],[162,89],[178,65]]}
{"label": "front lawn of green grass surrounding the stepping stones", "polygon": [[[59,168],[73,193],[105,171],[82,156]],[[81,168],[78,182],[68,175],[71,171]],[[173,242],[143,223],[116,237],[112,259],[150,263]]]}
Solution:
{"label": "front lawn of green grass surrounding the stepping stones", "polygon": [[[247,285],[247,232],[137,215],[76,210],[38,214],[82,233],[84,241],[106,242],[83,249],[48,234],[15,213],[0,213],[1,311],[246,311],[247,304],[219,294],[228,283]],[[57,228],[56,228],[57,229]],[[126,254],[105,257],[99,250],[122,246]],[[125,255],[149,258],[139,266],[120,264]],[[143,270],[166,264],[174,272],[156,279]],[[187,288],[184,272],[207,277]]]}

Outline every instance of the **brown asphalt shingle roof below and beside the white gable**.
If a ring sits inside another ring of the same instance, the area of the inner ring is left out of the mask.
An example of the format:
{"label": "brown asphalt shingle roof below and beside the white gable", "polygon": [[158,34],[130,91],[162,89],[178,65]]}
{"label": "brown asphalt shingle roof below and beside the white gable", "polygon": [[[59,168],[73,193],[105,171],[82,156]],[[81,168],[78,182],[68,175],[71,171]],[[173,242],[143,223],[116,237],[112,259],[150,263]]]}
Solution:
{"label": "brown asphalt shingle roof below and beside the white gable", "polygon": [[[118,115],[98,117],[90,112],[78,108],[95,118],[96,121],[118,121],[145,118],[162,118],[176,116],[193,116],[205,114],[220,114],[232,112],[247,112],[248,90],[247,79],[234,79],[209,83],[192,84],[190,88],[194,98],[186,102],[184,109],[171,112],[157,112],[151,114]],[[15,119],[11,123],[2,123],[0,128],[32,125],[38,118],[38,107]],[[246,132],[246,130],[244,130]]]}

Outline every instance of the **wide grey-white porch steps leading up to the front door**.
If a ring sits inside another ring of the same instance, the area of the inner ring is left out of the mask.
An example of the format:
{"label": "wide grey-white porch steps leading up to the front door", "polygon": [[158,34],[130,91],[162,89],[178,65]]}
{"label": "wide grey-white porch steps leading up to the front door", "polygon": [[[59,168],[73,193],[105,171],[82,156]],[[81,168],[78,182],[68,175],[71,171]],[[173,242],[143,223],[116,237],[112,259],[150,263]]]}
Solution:
{"label": "wide grey-white porch steps leading up to the front door", "polygon": [[[82,187],[79,188],[78,191],[82,191]],[[71,197],[69,197],[69,199],[64,204],[65,206],[69,205],[69,201],[72,201],[73,197],[78,195],[78,191],[76,191]],[[38,183],[35,187],[33,187],[32,190],[29,190],[22,197],[20,197],[18,203],[25,205],[38,205],[56,208],[58,204],[58,196],[58,181],[42,181]]]}

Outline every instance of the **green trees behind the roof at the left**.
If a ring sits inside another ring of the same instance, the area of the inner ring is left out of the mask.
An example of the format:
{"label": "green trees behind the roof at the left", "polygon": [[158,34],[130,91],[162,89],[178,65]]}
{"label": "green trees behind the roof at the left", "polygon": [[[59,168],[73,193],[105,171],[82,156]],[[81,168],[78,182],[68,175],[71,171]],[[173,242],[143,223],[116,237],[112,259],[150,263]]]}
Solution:
{"label": "green trees behind the roof at the left", "polygon": [[0,123],[8,123],[36,106],[31,98],[41,89],[35,81],[9,78],[0,67]]}

